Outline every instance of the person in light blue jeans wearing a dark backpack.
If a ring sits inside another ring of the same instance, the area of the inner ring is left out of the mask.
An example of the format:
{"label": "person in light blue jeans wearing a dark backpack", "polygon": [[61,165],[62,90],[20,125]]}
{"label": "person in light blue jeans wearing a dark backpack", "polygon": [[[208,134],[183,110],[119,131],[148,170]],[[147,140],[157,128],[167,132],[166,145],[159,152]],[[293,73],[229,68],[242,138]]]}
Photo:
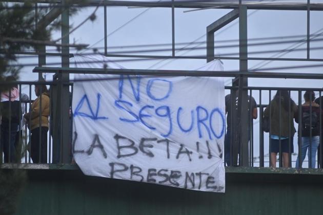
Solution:
{"label": "person in light blue jeans wearing a dark backpack", "polygon": [[[314,102],[315,93],[313,91],[306,91],[304,94],[305,102],[301,105],[301,158],[297,156],[295,167],[301,167],[305,159],[306,152],[309,158],[309,168],[315,167],[316,151],[319,145],[319,104]],[[323,116],[322,116],[323,117]],[[322,120],[322,119],[321,119]],[[299,119],[296,115],[295,121],[298,123]],[[299,165],[299,160],[301,160]],[[311,161],[311,162],[310,162]]]}

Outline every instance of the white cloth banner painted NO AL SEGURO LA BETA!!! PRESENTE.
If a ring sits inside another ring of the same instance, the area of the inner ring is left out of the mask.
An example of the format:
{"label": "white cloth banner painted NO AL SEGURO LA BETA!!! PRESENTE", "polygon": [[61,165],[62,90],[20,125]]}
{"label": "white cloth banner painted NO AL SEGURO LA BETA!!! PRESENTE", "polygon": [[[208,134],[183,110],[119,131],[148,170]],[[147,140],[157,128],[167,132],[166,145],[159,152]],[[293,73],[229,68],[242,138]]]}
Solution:
{"label": "white cloth banner painted NO AL SEGURO LA BETA!!! PRESENTE", "polygon": [[222,78],[74,78],[109,78],[74,82],[73,154],[84,174],[225,192]]}

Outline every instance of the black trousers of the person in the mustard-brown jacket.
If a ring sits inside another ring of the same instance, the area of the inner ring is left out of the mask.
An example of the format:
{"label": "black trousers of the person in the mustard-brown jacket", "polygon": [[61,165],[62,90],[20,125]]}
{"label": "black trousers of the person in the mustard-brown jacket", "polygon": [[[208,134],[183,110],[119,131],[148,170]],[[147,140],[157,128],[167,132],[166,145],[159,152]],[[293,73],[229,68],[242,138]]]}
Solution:
{"label": "black trousers of the person in the mustard-brown jacket", "polygon": [[30,157],[33,163],[47,163],[47,132],[48,127],[36,127],[31,131]]}

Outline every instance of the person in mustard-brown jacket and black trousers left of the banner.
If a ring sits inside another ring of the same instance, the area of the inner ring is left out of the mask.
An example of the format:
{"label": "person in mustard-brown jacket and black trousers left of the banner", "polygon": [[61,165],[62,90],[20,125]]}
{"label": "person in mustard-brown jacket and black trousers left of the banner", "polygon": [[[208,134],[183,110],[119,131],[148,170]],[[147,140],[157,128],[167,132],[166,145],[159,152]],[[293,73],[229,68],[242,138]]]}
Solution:
{"label": "person in mustard-brown jacket and black trousers left of the banner", "polygon": [[[35,94],[37,98],[32,102],[30,112],[24,115],[31,130],[30,156],[33,163],[47,163],[50,99],[46,85],[35,85]],[[39,144],[41,144],[41,152],[39,152]]]}

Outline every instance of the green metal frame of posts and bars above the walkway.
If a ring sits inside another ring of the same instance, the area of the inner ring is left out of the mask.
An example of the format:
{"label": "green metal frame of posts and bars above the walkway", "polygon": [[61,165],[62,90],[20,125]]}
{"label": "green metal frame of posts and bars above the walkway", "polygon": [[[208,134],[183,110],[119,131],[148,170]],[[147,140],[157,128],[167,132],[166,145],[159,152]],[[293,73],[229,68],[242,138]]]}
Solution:
{"label": "green metal frame of posts and bars above the walkway", "polygon": [[[22,2],[22,1],[11,1],[11,2]],[[46,28],[56,17],[62,15],[62,44],[69,44],[69,37],[66,36],[69,33],[69,15],[68,7],[66,7],[67,0],[55,1],[55,0],[39,0],[37,3],[54,3],[57,7],[54,7],[43,20],[36,22],[37,27]],[[35,4],[35,12],[37,12],[37,5]],[[75,1],[77,4],[77,1]],[[261,73],[261,72],[248,72],[248,60],[285,60],[285,61],[320,61],[323,59],[312,59],[310,56],[310,12],[311,11],[323,11],[323,4],[311,4],[310,0],[304,4],[249,4],[244,3],[244,1],[239,0],[236,3],[214,3],[212,1],[205,1],[201,3],[199,1],[175,1],[170,0],[168,2],[131,2],[131,1],[109,1],[109,0],[89,0],[87,5],[82,5],[80,7],[86,6],[100,6],[104,7],[104,55],[108,57],[135,57],[135,58],[183,58],[183,59],[206,59],[211,61],[215,58],[214,56],[214,32],[223,28],[234,19],[239,18],[239,57],[221,57],[216,56],[219,59],[233,59],[239,60],[239,72],[201,72],[198,74],[192,71],[165,71],[165,70],[124,70],[124,69],[79,69],[79,68],[69,68],[69,48],[64,47],[62,53],[46,53],[46,47],[42,47],[36,52],[20,52],[17,54],[30,54],[38,55],[38,66],[33,72],[39,73],[39,78],[42,72],[54,72],[56,73],[57,80],[61,83],[69,82],[69,74],[67,73],[99,73],[99,74],[140,74],[140,75],[185,75],[185,76],[224,76],[224,77],[235,77],[233,86],[239,89],[238,92],[238,113],[237,113],[237,131],[235,136],[240,137],[240,140],[233,140],[234,142],[241,142],[240,150],[240,164],[242,166],[249,166],[249,150],[248,150],[248,130],[246,123],[247,111],[248,111],[248,77],[271,77],[271,78],[309,78],[309,79],[323,79],[323,74],[297,74],[297,73]],[[108,52],[108,37],[107,37],[107,7],[110,6],[126,6],[126,7],[151,7],[151,8],[170,8],[171,9],[171,25],[172,25],[172,55],[171,56],[155,56],[155,55],[124,55],[124,54],[109,54]],[[203,9],[232,9],[231,12],[225,16],[219,18],[214,23],[209,25],[207,29],[207,55],[205,57],[194,57],[194,56],[176,56],[175,55],[175,8],[192,8],[197,10]],[[266,58],[266,57],[248,57],[248,35],[247,35],[247,12],[249,10],[300,10],[307,11],[307,57],[306,58]],[[62,68],[44,68],[43,65],[46,64],[47,55],[58,55],[62,56]],[[62,148],[61,152],[70,152],[69,144],[66,144],[69,140],[69,129],[68,129],[68,102],[63,102],[68,100],[69,88],[64,86],[64,84],[57,85],[53,89],[54,95],[56,95],[56,110],[55,116],[60,116],[60,123],[55,123],[56,135],[59,136],[58,139],[53,140],[59,143]],[[236,93],[232,91],[232,93]],[[59,97],[58,95],[63,95]],[[57,120],[57,117],[54,118]],[[58,127],[58,124],[63,125]],[[58,131],[59,130],[59,131]],[[234,148],[234,155],[237,155],[237,148]],[[68,162],[68,155],[63,154],[63,162]]]}

